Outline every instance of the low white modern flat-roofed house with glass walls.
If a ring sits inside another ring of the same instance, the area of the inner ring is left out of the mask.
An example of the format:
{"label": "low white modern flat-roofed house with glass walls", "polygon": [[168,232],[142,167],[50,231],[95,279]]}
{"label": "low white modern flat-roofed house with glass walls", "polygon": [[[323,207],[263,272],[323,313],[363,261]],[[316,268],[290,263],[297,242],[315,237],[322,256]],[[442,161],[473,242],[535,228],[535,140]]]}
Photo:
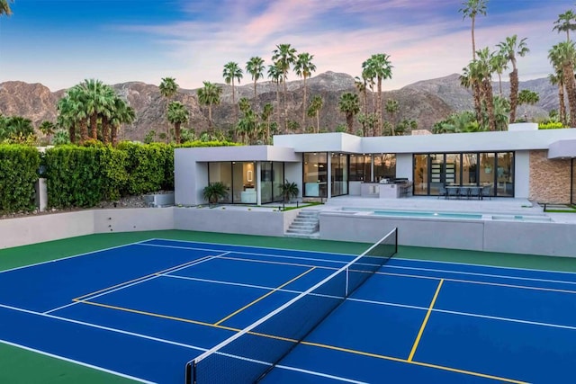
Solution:
{"label": "low white modern flat-roofed house with glass walls", "polygon": [[409,181],[414,196],[443,186],[485,186],[491,197],[576,203],[576,129],[360,138],[347,133],[278,135],[273,146],[175,150],[175,203],[206,201],[202,189],[225,183],[230,204],[283,201],[284,181],[302,198],[383,197],[382,183]]}

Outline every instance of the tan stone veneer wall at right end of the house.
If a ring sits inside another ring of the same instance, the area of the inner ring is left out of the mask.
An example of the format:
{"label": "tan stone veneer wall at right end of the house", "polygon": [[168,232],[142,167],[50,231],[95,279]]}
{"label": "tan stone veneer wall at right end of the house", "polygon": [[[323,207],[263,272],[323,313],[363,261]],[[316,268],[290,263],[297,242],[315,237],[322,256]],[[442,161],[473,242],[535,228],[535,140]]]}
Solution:
{"label": "tan stone veneer wall at right end of the house", "polygon": [[547,150],[530,151],[529,199],[570,202],[570,159],[548,159]]}

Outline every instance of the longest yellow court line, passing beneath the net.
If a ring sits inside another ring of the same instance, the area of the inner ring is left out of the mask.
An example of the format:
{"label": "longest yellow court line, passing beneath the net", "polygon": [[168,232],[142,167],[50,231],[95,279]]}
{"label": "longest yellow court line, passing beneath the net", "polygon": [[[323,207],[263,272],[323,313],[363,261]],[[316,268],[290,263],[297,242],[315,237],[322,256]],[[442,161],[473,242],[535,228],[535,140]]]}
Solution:
{"label": "longest yellow court line, passing beneath the net", "polygon": [[[209,326],[212,328],[218,328],[218,329],[224,329],[227,331],[231,331],[231,332],[240,332],[241,329],[238,328],[233,328],[231,326],[220,326],[220,325],[215,325],[215,324],[211,324],[211,323],[205,323],[202,321],[197,321],[197,320],[191,320],[188,318],[183,318],[183,317],[174,317],[174,316],[167,316],[167,315],[162,315],[162,314],[158,314],[158,313],[153,313],[153,312],[146,312],[143,310],[138,310],[138,309],[131,309],[131,308],[123,308],[123,307],[115,307],[115,306],[111,306],[108,304],[101,304],[101,303],[96,303],[93,301],[86,301],[86,300],[79,300],[79,299],[75,299],[74,301],[79,302],[79,303],[83,303],[83,304],[89,304],[89,305],[93,305],[96,307],[103,307],[103,308],[109,308],[109,309],[117,309],[117,310],[122,310],[125,312],[130,312],[130,313],[135,313],[135,314],[139,314],[139,315],[146,315],[146,316],[151,316],[151,317],[159,317],[159,318],[166,318],[168,320],[175,320],[175,321],[182,321],[184,323],[189,323],[189,324],[195,324],[198,326]],[[286,342],[290,342],[290,343],[298,343],[298,340],[296,339],[292,339],[292,338],[288,338],[288,337],[283,337],[283,336],[276,336],[276,335],[267,335],[267,334],[262,334],[259,332],[253,332],[253,331],[249,331],[247,332],[248,335],[257,335],[257,336],[262,336],[262,337],[268,337],[268,338],[272,338],[275,340],[282,340],[282,341],[286,341]],[[310,346],[314,346],[314,347],[318,347],[318,348],[326,348],[329,350],[333,350],[333,351],[339,351],[339,352],[345,352],[345,353],[354,353],[357,355],[362,355],[362,356],[367,356],[367,357],[373,357],[376,359],[382,359],[382,360],[387,360],[387,361],[391,361],[391,362],[401,362],[401,363],[409,363],[409,364],[413,364],[413,365],[419,365],[422,367],[427,367],[427,368],[432,368],[435,370],[440,370],[440,371],[451,371],[451,372],[455,372],[455,373],[461,373],[464,375],[469,375],[469,376],[475,376],[475,377],[480,377],[480,378],[485,378],[485,379],[491,379],[491,380],[498,380],[501,382],[507,382],[507,383],[512,383],[512,384],[528,384],[527,381],[520,381],[520,380],[512,380],[512,379],[506,379],[506,378],[501,378],[499,376],[493,376],[493,375],[488,375],[488,374],[484,374],[484,373],[479,373],[479,372],[473,372],[473,371],[464,371],[464,370],[458,370],[456,368],[450,368],[450,367],[445,367],[442,365],[436,365],[436,364],[430,364],[428,362],[414,362],[414,361],[408,361],[406,359],[401,359],[398,357],[392,357],[392,356],[385,356],[382,354],[376,354],[376,353],[367,353],[367,352],[362,352],[362,351],[356,351],[353,349],[347,349],[347,348],[341,348],[335,345],[329,345],[329,344],[319,344],[319,343],[311,343],[311,342],[306,342],[306,341],[302,341],[301,344],[303,345],[310,345]]]}

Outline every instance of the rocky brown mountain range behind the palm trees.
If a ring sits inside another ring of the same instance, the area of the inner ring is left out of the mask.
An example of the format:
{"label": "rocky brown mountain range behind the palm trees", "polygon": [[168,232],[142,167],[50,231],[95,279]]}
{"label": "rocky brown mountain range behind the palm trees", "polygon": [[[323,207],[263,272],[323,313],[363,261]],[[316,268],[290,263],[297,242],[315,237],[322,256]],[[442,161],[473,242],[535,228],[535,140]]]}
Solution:
{"label": "rocky brown mountain range behind the palm trees", "polygon": [[[320,94],[324,103],[320,111],[320,128],[334,130],[340,124],[345,124],[343,113],[338,111],[338,101],[341,94],[356,92],[355,79],[342,73],[326,72],[307,80],[308,100]],[[212,107],[214,124],[220,129],[231,129],[234,124],[235,109],[232,105],[232,87],[219,84],[222,87],[220,105]],[[383,82],[385,88],[386,82]],[[157,133],[166,132],[170,125],[166,121],[166,100],[161,96],[157,85],[139,82],[129,82],[112,85],[118,94],[125,98],[136,111],[136,121],[122,129],[125,139],[143,139],[154,129]],[[288,119],[302,124],[302,80],[286,83],[286,104]],[[257,84],[257,105],[265,103],[276,104],[276,85],[272,82]],[[494,92],[500,91],[499,83],[494,83]],[[520,83],[520,89],[528,89],[539,94],[540,102],[534,106],[521,105],[518,116],[528,118],[547,116],[552,109],[558,109],[557,88],[546,78],[529,80]],[[187,106],[190,111],[188,128],[202,132],[208,128],[208,112],[205,106],[198,103],[195,89],[180,89],[176,99]],[[376,96],[374,89],[374,98]],[[509,93],[509,83],[502,83],[504,95]],[[56,121],[58,100],[66,90],[51,92],[41,84],[27,84],[18,81],[0,83],[0,112],[6,116],[24,116],[31,119],[35,126],[41,121]],[[373,94],[368,92],[368,108],[372,110]],[[250,82],[236,87],[236,102],[240,97],[254,98],[254,85]],[[419,129],[431,129],[435,122],[445,119],[450,113],[473,109],[473,99],[470,90],[460,85],[459,75],[440,77],[437,79],[419,81],[406,85],[398,90],[383,91],[383,101],[393,98],[399,102],[400,109],[395,120],[409,119],[418,121]],[[360,97],[361,103],[363,97]],[[284,97],[280,85],[280,107],[283,109]],[[275,107],[276,108],[276,107]],[[385,120],[389,120],[386,116]],[[313,125],[307,118],[306,125]],[[355,123],[355,130],[360,125]]]}

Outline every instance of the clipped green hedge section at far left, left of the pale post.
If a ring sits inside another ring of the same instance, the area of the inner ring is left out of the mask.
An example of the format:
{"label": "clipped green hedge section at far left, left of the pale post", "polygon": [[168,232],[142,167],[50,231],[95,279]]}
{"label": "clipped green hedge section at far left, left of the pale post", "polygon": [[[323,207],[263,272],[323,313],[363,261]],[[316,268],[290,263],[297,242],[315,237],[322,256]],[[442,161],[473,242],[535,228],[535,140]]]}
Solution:
{"label": "clipped green hedge section at far left, left of the pale post", "polygon": [[34,210],[39,167],[35,147],[0,145],[0,212]]}

